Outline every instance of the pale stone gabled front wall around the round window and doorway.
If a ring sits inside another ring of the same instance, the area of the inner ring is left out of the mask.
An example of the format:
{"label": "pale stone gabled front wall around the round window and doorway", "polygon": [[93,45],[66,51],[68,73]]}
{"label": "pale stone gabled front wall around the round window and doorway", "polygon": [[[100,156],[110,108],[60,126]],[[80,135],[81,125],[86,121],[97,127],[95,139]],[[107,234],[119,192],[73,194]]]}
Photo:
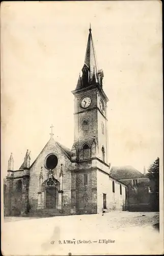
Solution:
{"label": "pale stone gabled front wall around the round window and doorway", "polygon": [[61,172],[61,164],[63,164],[63,204],[65,208],[70,208],[71,203],[71,161],[63,153],[61,148],[51,139],[44,150],[30,168],[30,184],[29,184],[29,208],[31,210],[37,209],[38,206],[38,192],[39,192],[39,176],[42,167],[43,182],[48,178],[48,170],[45,167],[45,159],[47,155],[53,153],[58,157],[58,164],[54,169],[54,178],[58,181]]}

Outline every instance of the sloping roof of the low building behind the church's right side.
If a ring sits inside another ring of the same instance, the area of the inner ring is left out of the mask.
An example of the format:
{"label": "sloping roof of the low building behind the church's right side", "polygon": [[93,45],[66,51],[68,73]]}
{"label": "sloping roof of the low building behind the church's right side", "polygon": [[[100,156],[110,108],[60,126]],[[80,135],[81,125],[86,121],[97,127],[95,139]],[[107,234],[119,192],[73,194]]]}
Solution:
{"label": "sloping roof of the low building behind the church's right side", "polygon": [[117,180],[121,179],[134,179],[141,178],[143,174],[139,170],[135,169],[130,165],[126,166],[113,166],[110,171],[110,176],[114,177]]}

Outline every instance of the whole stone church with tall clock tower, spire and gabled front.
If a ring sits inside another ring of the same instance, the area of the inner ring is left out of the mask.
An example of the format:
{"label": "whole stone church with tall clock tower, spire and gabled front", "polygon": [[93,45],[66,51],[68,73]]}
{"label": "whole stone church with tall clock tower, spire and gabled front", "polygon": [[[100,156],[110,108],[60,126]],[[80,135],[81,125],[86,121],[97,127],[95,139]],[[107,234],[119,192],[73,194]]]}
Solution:
{"label": "whole stone church with tall clock tower, spire and gabled front", "polygon": [[[11,154],[4,179],[5,216],[99,214],[127,209],[127,185],[110,176],[108,98],[98,70],[91,28],[74,95],[71,150],[50,139],[31,164],[27,151],[14,170]],[[51,126],[52,128],[52,126]]]}

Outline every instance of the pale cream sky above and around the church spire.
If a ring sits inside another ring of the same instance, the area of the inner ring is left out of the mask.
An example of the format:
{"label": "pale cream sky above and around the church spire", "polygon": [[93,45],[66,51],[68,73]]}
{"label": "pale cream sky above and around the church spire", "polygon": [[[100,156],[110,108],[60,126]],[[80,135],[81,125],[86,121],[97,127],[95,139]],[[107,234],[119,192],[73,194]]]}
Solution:
{"label": "pale cream sky above and around the church spire", "polygon": [[26,150],[31,163],[50,138],[73,145],[74,96],[91,23],[103,69],[109,162],[143,173],[162,156],[162,34],[159,1],[3,2],[2,174]]}

